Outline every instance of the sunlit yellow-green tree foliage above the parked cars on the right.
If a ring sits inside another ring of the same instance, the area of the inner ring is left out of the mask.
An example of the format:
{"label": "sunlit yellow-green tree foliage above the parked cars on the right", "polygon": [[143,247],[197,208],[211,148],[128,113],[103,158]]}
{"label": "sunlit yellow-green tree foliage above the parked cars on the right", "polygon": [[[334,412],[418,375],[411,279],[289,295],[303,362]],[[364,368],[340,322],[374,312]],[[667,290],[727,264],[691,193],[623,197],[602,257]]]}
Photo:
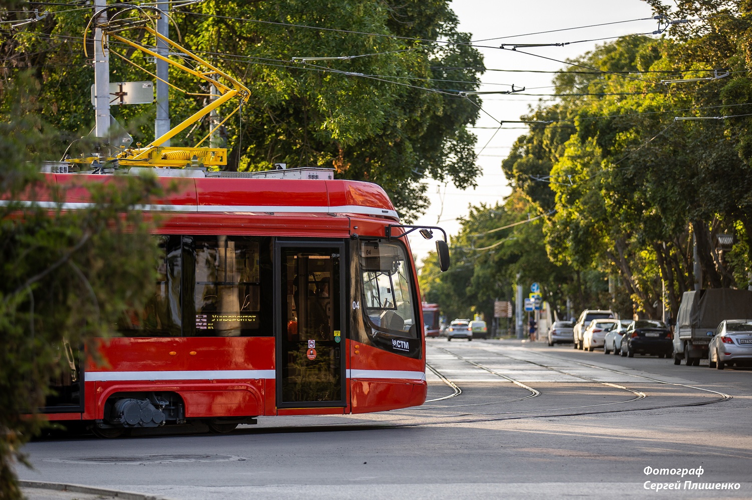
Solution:
{"label": "sunlit yellow-green tree foliage above the parked cars on the right", "polygon": [[[694,21],[573,60],[553,80],[562,97],[523,116],[533,123],[502,170],[511,199],[524,197],[544,219],[544,254],[565,271],[555,282],[570,300],[660,318],[662,301],[675,316],[695,286],[695,242],[703,288],[750,285],[752,2],[649,3],[667,20]],[[478,207],[465,226],[490,213]],[[509,276],[502,264],[482,273]],[[583,280],[593,294],[576,300],[570,285]]]}

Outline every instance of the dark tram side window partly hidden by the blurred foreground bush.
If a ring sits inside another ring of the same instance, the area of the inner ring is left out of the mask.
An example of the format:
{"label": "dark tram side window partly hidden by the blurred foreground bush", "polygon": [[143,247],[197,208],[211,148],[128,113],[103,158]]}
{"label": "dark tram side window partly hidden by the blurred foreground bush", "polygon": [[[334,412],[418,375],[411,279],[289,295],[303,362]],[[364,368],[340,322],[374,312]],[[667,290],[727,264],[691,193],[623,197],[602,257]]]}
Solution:
{"label": "dark tram side window partly hidden by the blurred foreground bush", "polygon": [[159,235],[156,238],[159,257],[155,263],[157,277],[154,294],[142,311],[131,309],[124,313],[118,323],[118,330],[124,336],[180,336],[180,236]]}

